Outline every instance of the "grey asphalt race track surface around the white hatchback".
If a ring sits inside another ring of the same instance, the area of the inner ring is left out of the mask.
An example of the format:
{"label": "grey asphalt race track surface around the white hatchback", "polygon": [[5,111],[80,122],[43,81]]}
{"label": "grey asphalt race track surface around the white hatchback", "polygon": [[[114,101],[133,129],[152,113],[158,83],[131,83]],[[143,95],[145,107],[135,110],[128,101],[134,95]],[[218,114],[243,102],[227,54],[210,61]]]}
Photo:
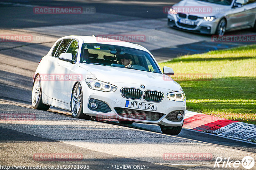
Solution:
{"label": "grey asphalt race track surface around the white hatchback", "polygon": [[[72,118],[68,111],[54,107],[48,111],[32,108],[32,77],[38,62],[53,43],[65,35],[144,35],[146,39],[136,43],[148,48],[158,61],[188,53],[245,45],[211,42],[209,35],[169,28],[163,7],[176,2],[1,1],[0,36],[26,34],[31,35],[33,40],[0,41],[0,113],[32,114],[36,118],[32,121],[0,120],[0,165],[89,165],[90,169],[132,165],[134,169],[216,169],[213,166],[217,157],[230,157],[234,161],[241,161],[245,156],[255,158],[256,145],[240,140],[189,129],[182,129],[178,136],[171,136],[163,134],[157,125],[81,120]],[[90,6],[95,7],[96,13],[34,14],[34,6]],[[228,34],[254,33],[248,29]],[[37,160],[37,153],[82,154],[82,159]],[[166,153],[204,153],[210,158],[168,160],[163,157]],[[0,169],[3,168],[0,166]]]}

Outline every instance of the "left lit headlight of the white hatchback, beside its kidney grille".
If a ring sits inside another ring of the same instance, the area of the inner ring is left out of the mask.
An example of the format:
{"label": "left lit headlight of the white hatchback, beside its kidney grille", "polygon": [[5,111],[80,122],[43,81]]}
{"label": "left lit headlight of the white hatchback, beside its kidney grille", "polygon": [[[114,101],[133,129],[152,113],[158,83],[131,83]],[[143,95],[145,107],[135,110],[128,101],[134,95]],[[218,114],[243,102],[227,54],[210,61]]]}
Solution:
{"label": "left lit headlight of the white hatchback, beside its kidney grille", "polygon": [[103,81],[99,81],[99,80],[95,80],[95,79],[86,79],[85,81],[86,81],[87,85],[89,86],[89,88],[91,88],[93,90],[114,92],[117,89],[116,86],[114,86],[112,84],[108,84]]}

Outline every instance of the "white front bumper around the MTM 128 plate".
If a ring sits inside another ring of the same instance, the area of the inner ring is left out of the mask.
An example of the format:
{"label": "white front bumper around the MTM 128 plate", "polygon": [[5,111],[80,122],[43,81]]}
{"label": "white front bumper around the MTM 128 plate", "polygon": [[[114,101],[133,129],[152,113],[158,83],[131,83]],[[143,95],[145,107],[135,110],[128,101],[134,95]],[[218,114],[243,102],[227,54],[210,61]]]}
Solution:
{"label": "white front bumper around the MTM 128 plate", "polygon": [[[162,89],[157,88],[154,86],[146,86],[145,89],[140,88],[140,84],[127,84],[127,83],[117,83],[117,82],[110,82],[110,84],[113,84],[117,87],[115,92],[103,92],[98,90],[90,89],[85,82],[82,83],[82,89],[83,89],[83,99],[84,99],[84,114],[94,116],[94,117],[100,117],[100,118],[112,118],[112,119],[122,119],[122,120],[129,120],[133,122],[140,122],[140,123],[148,123],[148,124],[161,124],[165,126],[181,126],[184,121],[185,111],[186,111],[186,100],[184,102],[176,102],[169,100],[166,96],[167,93],[172,92],[172,90],[168,89]],[[164,93],[164,98],[161,102],[148,102],[143,99],[143,97],[140,100],[134,100],[134,99],[127,99],[124,98],[121,95],[121,88],[122,87],[132,87],[141,89],[143,91],[145,90],[155,90],[155,91],[161,91]],[[89,100],[90,99],[96,99],[105,102],[110,107],[111,111],[104,113],[99,111],[94,111],[92,109],[89,109]],[[134,109],[134,108],[127,108],[125,107],[126,100],[129,101],[136,101],[136,102],[143,102],[143,103],[152,103],[157,104],[157,110],[141,110],[141,109]],[[132,109],[136,111],[150,111],[150,112],[156,112],[156,113],[162,113],[163,116],[156,121],[151,120],[143,120],[140,118],[128,118],[128,117],[122,117],[119,116],[119,114],[116,112],[115,108],[123,108],[123,109]],[[167,115],[175,110],[183,110],[183,118],[180,121],[169,121],[166,119]]]}

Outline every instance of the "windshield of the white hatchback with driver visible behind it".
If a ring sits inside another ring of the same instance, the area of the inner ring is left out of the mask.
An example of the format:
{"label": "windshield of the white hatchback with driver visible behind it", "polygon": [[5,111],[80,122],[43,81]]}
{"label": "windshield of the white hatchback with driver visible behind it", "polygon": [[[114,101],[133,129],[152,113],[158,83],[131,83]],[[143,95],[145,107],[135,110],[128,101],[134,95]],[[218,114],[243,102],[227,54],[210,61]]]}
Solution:
{"label": "windshield of the white hatchback with driver visible behind it", "polygon": [[149,53],[133,48],[106,44],[83,44],[80,63],[161,73]]}

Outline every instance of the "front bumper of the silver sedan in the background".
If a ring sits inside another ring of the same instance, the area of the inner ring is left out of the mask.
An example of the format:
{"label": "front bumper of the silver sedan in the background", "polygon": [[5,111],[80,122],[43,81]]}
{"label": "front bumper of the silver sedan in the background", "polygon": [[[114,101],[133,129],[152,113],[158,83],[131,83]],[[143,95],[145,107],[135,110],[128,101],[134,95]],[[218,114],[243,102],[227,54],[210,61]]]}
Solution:
{"label": "front bumper of the silver sedan in the background", "polygon": [[[196,20],[190,20],[188,18],[180,18],[178,14],[168,14],[168,23],[167,25],[173,28],[178,28],[181,30],[186,30],[189,32],[198,32],[202,34],[215,34],[217,25],[219,23],[219,19],[215,19],[212,22],[205,21],[202,18],[197,18]],[[182,24],[180,23],[180,19],[193,21],[194,25]]]}

